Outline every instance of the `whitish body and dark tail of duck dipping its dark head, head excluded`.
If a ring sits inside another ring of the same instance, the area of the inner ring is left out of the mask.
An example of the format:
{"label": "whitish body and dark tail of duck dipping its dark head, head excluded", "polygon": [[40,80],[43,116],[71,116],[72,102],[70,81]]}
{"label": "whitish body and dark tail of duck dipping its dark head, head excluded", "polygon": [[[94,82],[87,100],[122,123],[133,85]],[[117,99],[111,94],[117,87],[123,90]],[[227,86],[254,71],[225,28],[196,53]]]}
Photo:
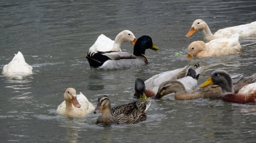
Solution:
{"label": "whitish body and dark tail of duck dipping its dark head, head excluded", "polygon": [[199,67],[199,65],[197,65],[195,70],[190,67],[191,66],[187,65],[183,68],[166,71],[152,76],[145,81],[145,86],[147,89],[152,90],[154,94],[157,94],[158,87],[162,82],[177,80],[184,85],[186,91],[190,92],[197,85],[199,74],[204,69],[204,66]]}

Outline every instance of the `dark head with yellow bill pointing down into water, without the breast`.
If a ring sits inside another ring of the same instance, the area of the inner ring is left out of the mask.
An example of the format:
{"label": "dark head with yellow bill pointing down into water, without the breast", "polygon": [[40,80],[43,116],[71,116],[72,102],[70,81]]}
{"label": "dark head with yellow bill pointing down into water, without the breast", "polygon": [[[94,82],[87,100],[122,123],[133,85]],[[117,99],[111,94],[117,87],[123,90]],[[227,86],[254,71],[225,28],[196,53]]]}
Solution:
{"label": "dark head with yellow bill pointing down into water, without the breast", "polygon": [[137,95],[137,98],[140,98],[141,100],[147,100],[146,93],[146,86],[142,79],[136,79],[135,86],[134,86],[135,94]]}

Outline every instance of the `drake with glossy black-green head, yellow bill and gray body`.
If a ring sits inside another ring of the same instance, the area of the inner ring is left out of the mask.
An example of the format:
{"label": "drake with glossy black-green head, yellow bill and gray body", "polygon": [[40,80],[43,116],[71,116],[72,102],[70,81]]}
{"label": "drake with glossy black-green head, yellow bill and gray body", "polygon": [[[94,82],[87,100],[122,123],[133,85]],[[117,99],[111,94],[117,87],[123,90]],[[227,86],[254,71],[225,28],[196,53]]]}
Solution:
{"label": "drake with glossy black-green head, yellow bill and gray body", "polygon": [[98,52],[86,56],[91,68],[102,70],[114,70],[124,67],[135,67],[148,64],[145,50],[158,48],[152,42],[150,36],[141,36],[134,45],[134,53],[127,52]]}

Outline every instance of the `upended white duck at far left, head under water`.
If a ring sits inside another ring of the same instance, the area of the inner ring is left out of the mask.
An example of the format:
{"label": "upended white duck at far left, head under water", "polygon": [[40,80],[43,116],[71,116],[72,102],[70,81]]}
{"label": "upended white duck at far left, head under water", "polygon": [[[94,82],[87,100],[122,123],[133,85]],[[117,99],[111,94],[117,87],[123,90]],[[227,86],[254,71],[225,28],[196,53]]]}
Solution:
{"label": "upended white duck at far left, head under water", "polygon": [[32,74],[32,67],[25,62],[22,53],[19,51],[9,64],[3,67],[2,74],[9,78],[22,79]]}

